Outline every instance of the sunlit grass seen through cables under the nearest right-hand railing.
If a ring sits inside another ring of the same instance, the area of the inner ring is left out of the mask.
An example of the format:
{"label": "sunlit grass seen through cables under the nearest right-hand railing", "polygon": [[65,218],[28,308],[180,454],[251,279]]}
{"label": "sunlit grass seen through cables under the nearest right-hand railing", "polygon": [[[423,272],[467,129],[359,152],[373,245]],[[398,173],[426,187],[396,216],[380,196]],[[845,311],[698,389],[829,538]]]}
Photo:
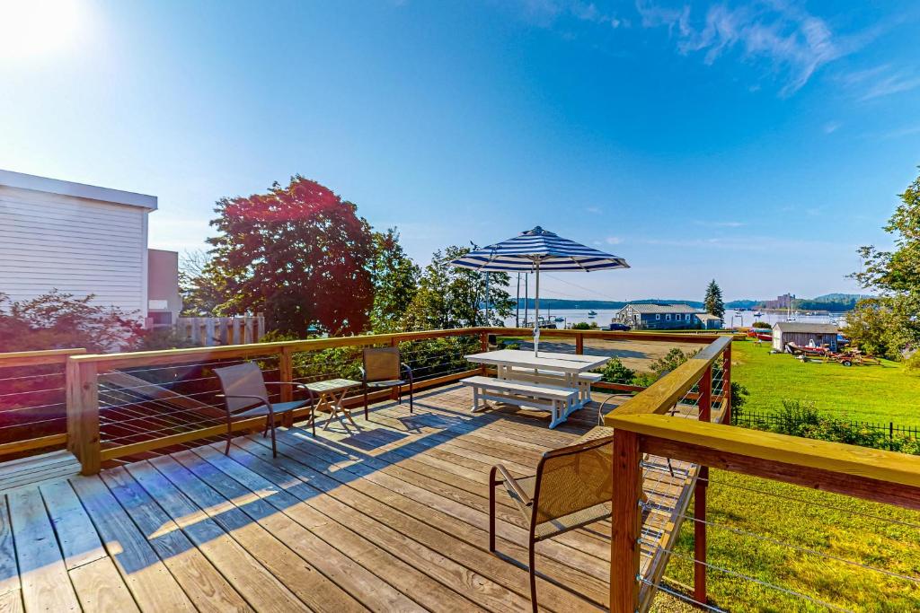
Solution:
{"label": "sunlit grass seen through cables under the nearest right-hand railing", "polygon": [[[716,525],[707,528],[708,563],[844,609],[920,610],[920,584],[825,557],[859,562],[920,581],[920,528],[916,528],[920,527],[920,513],[726,471],[711,471],[710,480],[707,521]],[[692,521],[684,522],[675,551],[693,555]],[[692,563],[673,556],[666,576],[693,585]],[[714,569],[708,573],[708,592],[714,604],[731,611],[826,610]]]}

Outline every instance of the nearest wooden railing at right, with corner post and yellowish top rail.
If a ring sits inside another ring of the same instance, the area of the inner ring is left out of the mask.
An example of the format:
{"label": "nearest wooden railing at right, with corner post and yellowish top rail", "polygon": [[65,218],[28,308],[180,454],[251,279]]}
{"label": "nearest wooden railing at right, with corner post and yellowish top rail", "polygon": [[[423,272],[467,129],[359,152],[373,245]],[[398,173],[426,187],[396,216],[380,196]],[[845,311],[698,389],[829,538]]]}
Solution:
{"label": "nearest wooden railing at right, with corner post and yellowish top rail", "polygon": [[[920,509],[920,457],[724,425],[730,423],[730,369],[730,337],[716,339],[604,418],[615,428],[610,566],[614,613],[648,610],[663,573],[662,566],[652,564],[640,574],[644,454],[696,464],[690,475],[696,485],[693,592],[696,602],[704,605],[710,467]],[[724,391],[718,417],[711,385],[716,370]],[[668,414],[695,389],[698,420]],[[676,528],[671,530],[672,537],[676,533]],[[672,547],[673,541],[664,543],[661,551]]]}

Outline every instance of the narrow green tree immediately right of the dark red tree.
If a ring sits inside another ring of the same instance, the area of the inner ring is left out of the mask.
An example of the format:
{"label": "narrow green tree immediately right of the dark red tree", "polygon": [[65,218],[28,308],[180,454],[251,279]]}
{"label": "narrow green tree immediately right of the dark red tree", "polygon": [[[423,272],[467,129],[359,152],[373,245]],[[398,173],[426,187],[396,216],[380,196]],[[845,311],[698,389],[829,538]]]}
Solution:
{"label": "narrow green tree immediately right of the dark red tree", "polygon": [[395,228],[374,233],[374,258],[371,281],[374,284],[374,307],[371,328],[376,333],[401,329],[412,299],[419,289],[420,268],[399,244]]}

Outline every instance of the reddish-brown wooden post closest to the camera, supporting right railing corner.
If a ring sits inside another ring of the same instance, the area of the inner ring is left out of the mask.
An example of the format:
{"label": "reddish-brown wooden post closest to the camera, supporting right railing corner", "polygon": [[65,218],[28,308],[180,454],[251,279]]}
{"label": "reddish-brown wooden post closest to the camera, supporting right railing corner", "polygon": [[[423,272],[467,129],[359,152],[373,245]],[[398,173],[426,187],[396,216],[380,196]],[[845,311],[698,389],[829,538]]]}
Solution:
{"label": "reddish-brown wooden post closest to the camera, supporting right railing corner", "polygon": [[638,607],[638,535],[642,514],[641,455],[638,435],[616,430],[614,435],[614,495],[610,539],[610,611],[635,613]]}

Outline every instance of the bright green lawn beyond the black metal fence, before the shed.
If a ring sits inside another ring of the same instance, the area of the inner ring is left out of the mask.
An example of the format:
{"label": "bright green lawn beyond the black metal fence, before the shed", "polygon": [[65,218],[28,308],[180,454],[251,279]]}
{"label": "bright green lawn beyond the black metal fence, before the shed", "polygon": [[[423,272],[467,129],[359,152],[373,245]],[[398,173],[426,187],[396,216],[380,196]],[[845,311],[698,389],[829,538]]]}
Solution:
{"label": "bright green lawn beyond the black metal fence, before the shed", "polygon": [[811,400],[835,415],[895,426],[920,426],[920,373],[882,360],[881,366],[802,363],[751,341],[731,345],[732,379],[751,392],[746,408],[773,412],[784,398]]}

